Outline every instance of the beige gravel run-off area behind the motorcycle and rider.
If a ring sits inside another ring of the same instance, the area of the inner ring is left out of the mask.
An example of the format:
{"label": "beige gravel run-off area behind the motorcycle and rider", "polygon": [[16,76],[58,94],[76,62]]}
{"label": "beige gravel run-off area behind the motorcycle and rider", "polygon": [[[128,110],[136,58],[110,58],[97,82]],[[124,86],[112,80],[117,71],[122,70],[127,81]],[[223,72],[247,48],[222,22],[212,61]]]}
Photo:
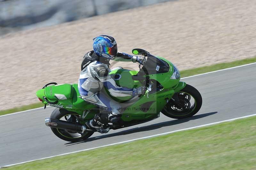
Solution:
{"label": "beige gravel run-off area behind the motorcycle and rider", "polygon": [[116,37],[119,51],[143,48],[180,70],[253,57],[255,6],[250,0],[180,0],[5,35],[1,110],[37,102],[36,90],[48,82],[76,83],[81,59],[100,34]]}

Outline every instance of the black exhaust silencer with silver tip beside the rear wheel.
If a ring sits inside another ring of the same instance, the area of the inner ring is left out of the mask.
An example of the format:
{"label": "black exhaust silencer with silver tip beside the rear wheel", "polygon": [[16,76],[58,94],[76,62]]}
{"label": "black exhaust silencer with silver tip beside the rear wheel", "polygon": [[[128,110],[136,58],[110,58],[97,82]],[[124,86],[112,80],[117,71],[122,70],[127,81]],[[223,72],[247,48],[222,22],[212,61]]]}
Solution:
{"label": "black exhaust silencer with silver tip beside the rear wheel", "polygon": [[45,125],[52,128],[75,130],[81,133],[84,133],[86,131],[85,125],[80,125],[80,124],[58,120],[58,119],[52,119],[52,118],[45,118]]}

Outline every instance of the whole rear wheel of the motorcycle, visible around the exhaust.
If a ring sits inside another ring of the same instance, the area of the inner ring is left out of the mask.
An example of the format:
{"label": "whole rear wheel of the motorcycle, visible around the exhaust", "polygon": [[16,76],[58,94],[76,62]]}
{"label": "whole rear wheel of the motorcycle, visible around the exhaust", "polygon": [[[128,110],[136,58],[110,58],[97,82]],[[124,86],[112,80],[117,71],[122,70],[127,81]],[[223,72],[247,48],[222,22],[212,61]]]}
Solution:
{"label": "whole rear wheel of the motorcycle, visible around the exhaust", "polygon": [[[69,112],[65,109],[56,108],[52,112],[50,118],[76,122],[76,119],[81,118],[81,116],[75,112]],[[80,140],[85,140],[89,138],[94,132],[93,131],[86,131],[84,133],[73,131],[73,130],[64,130],[59,128],[51,128],[52,132],[58,136],[60,139],[69,141],[69,142],[77,142]]]}

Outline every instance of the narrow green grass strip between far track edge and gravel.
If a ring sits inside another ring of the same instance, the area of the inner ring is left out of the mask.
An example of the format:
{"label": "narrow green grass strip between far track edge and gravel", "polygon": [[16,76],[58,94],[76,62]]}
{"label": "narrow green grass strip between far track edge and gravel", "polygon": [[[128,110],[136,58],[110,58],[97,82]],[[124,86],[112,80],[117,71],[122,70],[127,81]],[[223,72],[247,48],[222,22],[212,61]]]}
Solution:
{"label": "narrow green grass strip between far track edge and gravel", "polygon": [[[181,77],[188,77],[191,75],[207,73],[207,72],[216,71],[216,70],[229,68],[229,67],[241,66],[244,64],[249,64],[249,63],[254,63],[254,62],[256,62],[256,57],[247,58],[247,59],[243,59],[243,60],[237,60],[237,61],[228,62],[228,63],[215,64],[212,66],[205,66],[205,67],[184,70],[184,71],[181,71],[180,74],[181,74]],[[13,112],[20,112],[20,111],[34,109],[34,108],[42,107],[42,106],[43,106],[42,103],[29,104],[29,105],[25,105],[25,106],[21,106],[21,107],[16,107],[13,109],[2,110],[2,111],[0,111],[0,115],[9,114],[9,113],[13,113]]]}

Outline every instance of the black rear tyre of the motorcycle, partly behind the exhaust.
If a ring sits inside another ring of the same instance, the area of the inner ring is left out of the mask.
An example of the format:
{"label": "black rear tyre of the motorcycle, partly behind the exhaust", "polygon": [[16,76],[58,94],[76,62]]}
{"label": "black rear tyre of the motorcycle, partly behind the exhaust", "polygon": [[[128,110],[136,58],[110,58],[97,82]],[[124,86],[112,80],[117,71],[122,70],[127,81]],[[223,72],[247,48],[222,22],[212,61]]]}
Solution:
{"label": "black rear tyre of the motorcycle, partly behind the exhaust", "polygon": [[[78,116],[78,114],[76,112],[69,112],[65,109],[56,108],[53,110],[50,118],[59,120],[59,119],[65,117],[66,115]],[[89,138],[94,133],[93,131],[86,131],[85,133],[81,134],[81,133],[76,133],[76,132],[72,132],[72,131],[68,131],[68,130],[64,130],[64,129],[52,128],[52,127],[51,127],[51,130],[57,137],[59,137],[62,140],[65,140],[65,141],[69,141],[69,142],[77,142],[77,141],[85,140],[85,139]],[[79,137],[79,134],[81,135],[80,137]],[[77,135],[77,136],[75,136],[75,135]]]}

